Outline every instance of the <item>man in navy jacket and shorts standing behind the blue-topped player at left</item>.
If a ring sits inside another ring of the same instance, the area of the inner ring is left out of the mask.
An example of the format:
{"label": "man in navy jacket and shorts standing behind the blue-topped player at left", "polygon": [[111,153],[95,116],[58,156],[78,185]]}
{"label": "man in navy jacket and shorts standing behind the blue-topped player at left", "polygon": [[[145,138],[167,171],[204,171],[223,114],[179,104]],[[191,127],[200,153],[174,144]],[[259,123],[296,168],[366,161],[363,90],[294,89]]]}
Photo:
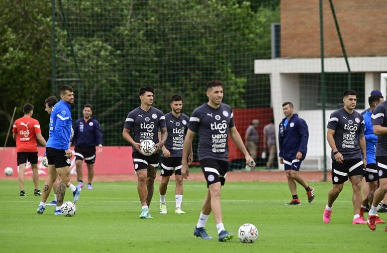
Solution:
{"label": "man in navy jacket and shorts standing behind the blue-topped player at left", "polygon": [[[87,189],[92,190],[92,178],[94,176],[95,146],[98,146],[98,153],[102,152],[102,130],[100,123],[91,117],[92,106],[83,106],[83,117],[77,119],[74,124],[74,137],[71,143],[75,143],[75,165],[78,186],[83,187],[83,159],[87,165]],[[70,143],[70,145],[71,145]]]}

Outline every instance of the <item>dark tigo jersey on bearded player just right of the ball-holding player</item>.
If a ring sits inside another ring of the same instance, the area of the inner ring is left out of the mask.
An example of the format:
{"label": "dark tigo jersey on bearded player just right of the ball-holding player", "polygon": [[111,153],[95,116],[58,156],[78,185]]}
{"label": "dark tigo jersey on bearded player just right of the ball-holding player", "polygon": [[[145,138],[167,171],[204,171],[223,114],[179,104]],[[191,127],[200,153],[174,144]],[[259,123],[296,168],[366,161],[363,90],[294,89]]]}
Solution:
{"label": "dark tigo jersey on bearded player just right of the ball-holding player", "polygon": [[184,138],[187,134],[189,117],[181,113],[175,117],[172,112],[165,114],[168,138],[165,141],[165,148],[170,152],[171,157],[182,157]]}

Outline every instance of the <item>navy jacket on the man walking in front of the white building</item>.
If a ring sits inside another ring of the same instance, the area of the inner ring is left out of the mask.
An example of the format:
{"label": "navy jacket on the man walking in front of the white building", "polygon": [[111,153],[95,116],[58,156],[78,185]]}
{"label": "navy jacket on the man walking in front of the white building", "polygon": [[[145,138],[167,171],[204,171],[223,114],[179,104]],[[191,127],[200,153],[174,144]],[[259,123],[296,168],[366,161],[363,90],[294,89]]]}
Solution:
{"label": "navy jacket on the man walking in front of the white building", "polygon": [[304,119],[300,118],[296,113],[293,114],[285,126],[286,117],[279,123],[278,143],[279,157],[286,161],[296,159],[297,152],[303,153],[301,160],[307,155],[308,145],[308,125]]}

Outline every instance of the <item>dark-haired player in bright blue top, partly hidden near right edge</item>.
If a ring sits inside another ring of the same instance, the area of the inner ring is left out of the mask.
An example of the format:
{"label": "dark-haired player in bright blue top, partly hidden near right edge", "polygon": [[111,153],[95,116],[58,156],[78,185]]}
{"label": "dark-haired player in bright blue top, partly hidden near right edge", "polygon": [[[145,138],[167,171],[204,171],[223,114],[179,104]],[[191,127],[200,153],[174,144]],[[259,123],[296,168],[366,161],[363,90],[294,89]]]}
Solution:
{"label": "dark-haired player in bright blue top, partly hidden near right edge", "polygon": [[[364,119],[364,138],[365,138],[365,152],[367,154],[367,167],[365,168],[365,181],[368,183],[368,194],[364,196],[363,201],[360,207],[360,218],[364,220],[364,209],[365,205],[369,206],[373,201],[373,194],[377,189],[377,183],[379,179],[376,159],[375,159],[375,150],[377,143],[377,136],[373,134],[373,127],[371,123],[372,111],[375,109],[376,105],[383,102],[383,98],[379,95],[373,95],[368,97],[369,110],[366,111],[363,115]],[[377,216],[377,214],[376,214]],[[385,223],[378,216],[376,217],[377,223]]]}

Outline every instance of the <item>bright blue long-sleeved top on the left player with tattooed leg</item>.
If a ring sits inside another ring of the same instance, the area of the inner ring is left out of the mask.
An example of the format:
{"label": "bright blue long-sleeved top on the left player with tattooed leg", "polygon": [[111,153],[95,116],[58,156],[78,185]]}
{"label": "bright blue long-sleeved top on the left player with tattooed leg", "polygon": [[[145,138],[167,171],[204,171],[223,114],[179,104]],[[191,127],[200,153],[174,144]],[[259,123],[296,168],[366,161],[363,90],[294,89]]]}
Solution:
{"label": "bright blue long-sleeved top on the left player with tattooed leg", "polygon": [[71,135],[71,106],[63,100],[57,102],[50,115],[50,132],[46,147],[68,150]]}

